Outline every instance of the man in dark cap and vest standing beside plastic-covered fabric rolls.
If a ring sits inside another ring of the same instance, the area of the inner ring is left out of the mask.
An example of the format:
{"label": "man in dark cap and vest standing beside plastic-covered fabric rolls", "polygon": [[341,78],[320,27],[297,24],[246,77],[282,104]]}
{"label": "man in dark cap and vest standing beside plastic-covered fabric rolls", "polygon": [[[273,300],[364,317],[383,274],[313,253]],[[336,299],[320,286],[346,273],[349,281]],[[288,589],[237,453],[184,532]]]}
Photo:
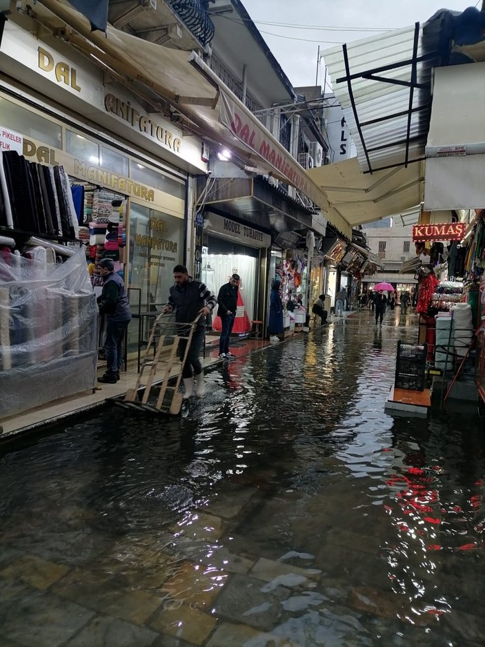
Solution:
{"label": "man in dark cap and vest standing beside plastic-covered fabric rolls", "polygon": [[116,274],[115,264],[110,258],[101,258],[99,273],[104,279],[103,291],[98,299],[99,312],[106,316],[106,373],[98,382],[115,384],[119,380],[119,370],[123,365],[123,337],[131,320],[130,305],[125,284]]}

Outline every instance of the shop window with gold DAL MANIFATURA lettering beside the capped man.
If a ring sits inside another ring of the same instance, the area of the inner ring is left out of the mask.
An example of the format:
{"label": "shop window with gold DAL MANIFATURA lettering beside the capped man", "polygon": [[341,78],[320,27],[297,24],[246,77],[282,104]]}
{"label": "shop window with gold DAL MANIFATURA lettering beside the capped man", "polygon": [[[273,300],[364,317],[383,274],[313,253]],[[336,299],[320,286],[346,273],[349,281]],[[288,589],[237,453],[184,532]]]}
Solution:
{"label": "shop window with gold DAL MANIFATURA lettering beside the capped man", "polygon": [[[173,284],[173,268],[184,260],[184,220],[139,204],[130,208],[130,305],[137,313],[161,309]],[[128,347],[137,349],[138,326],[128,329]]]}

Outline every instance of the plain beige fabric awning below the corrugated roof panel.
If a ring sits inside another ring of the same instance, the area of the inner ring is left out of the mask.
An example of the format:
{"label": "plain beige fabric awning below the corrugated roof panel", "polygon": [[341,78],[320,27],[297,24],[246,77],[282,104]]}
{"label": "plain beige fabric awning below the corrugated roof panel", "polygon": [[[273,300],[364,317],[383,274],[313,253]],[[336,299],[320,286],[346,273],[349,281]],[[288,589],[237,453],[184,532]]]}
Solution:
{"label": "plain beige fabric awning below the corrugated roof panel", "polygon": [[352,226],[402,213],[422,202],[422,163],[361,173],[357,157],[310,168],[308,175],[328,197],[328,218],[335,213]]}

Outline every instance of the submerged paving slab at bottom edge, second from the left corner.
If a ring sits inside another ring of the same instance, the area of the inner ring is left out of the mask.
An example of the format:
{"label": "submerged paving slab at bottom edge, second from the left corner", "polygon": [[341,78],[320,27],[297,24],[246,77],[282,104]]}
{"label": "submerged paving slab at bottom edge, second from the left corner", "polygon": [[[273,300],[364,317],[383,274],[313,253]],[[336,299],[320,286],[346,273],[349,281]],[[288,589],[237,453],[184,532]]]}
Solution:
{"label": "submerged paving slab at bottom edge, second from the left corner", "polygon": [[157,633],[112,617],[97,617],[66,647],[150,647]]}

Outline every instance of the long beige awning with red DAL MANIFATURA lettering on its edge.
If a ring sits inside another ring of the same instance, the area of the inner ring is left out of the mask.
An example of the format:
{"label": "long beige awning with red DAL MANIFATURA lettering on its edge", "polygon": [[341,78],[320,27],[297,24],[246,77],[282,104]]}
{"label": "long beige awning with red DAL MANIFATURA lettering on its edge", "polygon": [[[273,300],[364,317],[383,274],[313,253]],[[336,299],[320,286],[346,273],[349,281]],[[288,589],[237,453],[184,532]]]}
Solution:
{"label": "long beige awning with red DAL MANIFATURA lettering on its edge", "polygon": [[[255,173],[274,175],[328,211],[324,191],[195,52],[159,46],[109,25],[106,35],[91,32],[88,20],[59,0],[39,4],[77,32],[66,30],[70,44],[101,61],[115,78],[159,97],[193,133],[226,146]],[[39,12],[39,20],[56,27],[45,12]],[[334,218],[330,222],[350,238],[348,223],[338,213]]]}

